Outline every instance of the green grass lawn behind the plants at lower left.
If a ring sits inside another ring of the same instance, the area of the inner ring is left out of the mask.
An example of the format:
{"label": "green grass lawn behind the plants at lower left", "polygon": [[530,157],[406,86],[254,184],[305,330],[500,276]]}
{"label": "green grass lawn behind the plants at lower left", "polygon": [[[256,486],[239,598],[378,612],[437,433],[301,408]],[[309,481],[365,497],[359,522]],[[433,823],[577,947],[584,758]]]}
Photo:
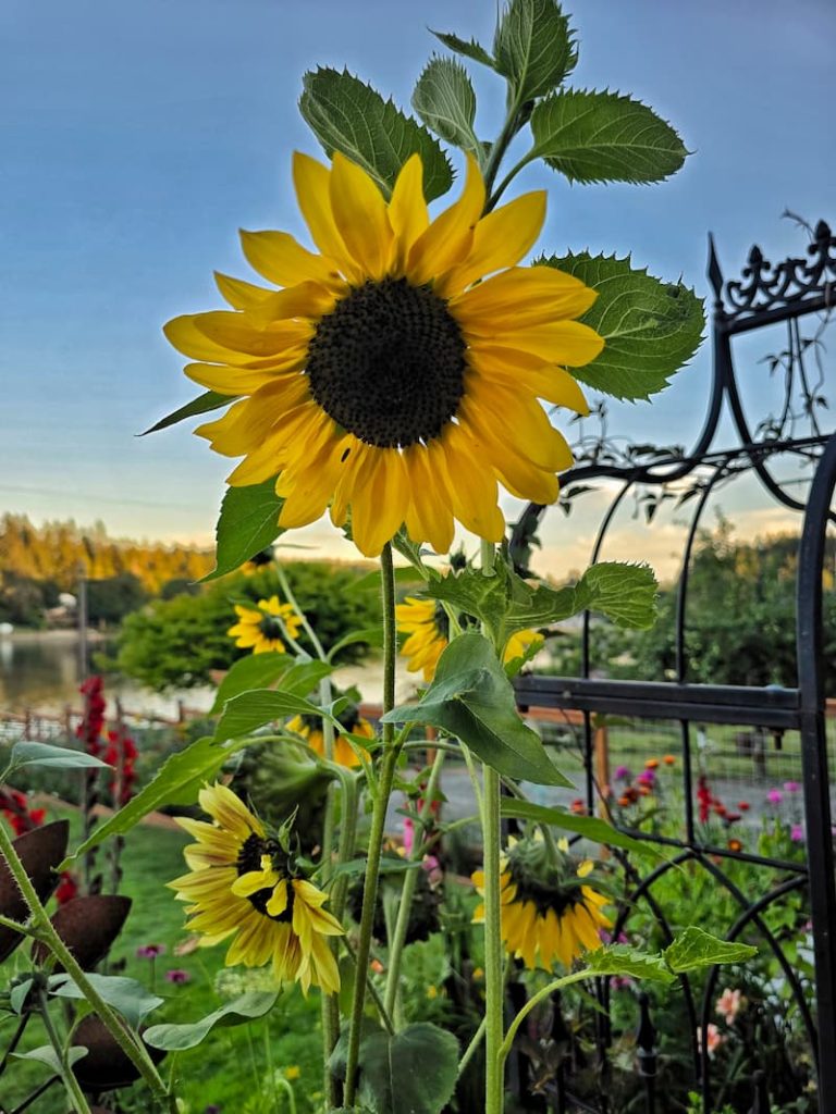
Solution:
{"label": "green grass lawn behind the plants at lower left", "polygon": [[[191,955],[177,956],[174,948],[186,938],[183,931],[183,906],[174,900],[165,882],[184,873],[182,848],[186,838],[179,833],[137,828],[127,841],[124,857],[121,891],[133,899],[125,928],[114,946],[110,960],[124,960],[120,974],[136,978],[146,986],[155,978],[157,994],[165,998],[148,1024],[193,1022],[216,1009],[244,989],[233,986],[218,993],[217,977],[225,970],[225,947],[201,948]],[[147,959],[138,959],[136,949],[146,944],[162,944],[166,954],[156,961],[156,970]],[[2,965],[0,974],[8,979],[28,968],[28,949],[23,946]],[[188,973],[184,985],[173,985],[165,978],[167,970]],[[227,971],[227,983],[239,983],[241,968]],[[223,978],[223,976],[222,976]],[[8,1015],[6,1015],[8,1017]],[[55,1009],[57,1024],[64,1018]],[[0,1056],[14,1029],[13,1020],[0,1026]],[[26,1034],[27,1048],[46,1043],[42,1028],[32,1020]],[[206,1107],[220,1107],[224,1114],[272,1114],[289,1110],[289,1098],[282,1088],[273,1092],[273,1072],[293,1078],[299,1114],[310,1114],[321,1097],[321,1048],[319,997],[312,993],[305,1000],[298,989],[286,990],[269,1018],[236,1028],[220,1028],[188,1052],[171,1055],[163,1062],[164,1076],[176,1081],[176,1093],[184,1101],[183,1114],[203,1114]],[[0,1081],[0,1105],[13,1110],[35,1086],[46,1078],[47,1068],[25,1062],[12,1063]],[[146,1114],[147,1092],[140,1088],[120,1092],[124,1108]],[[30,1107],[36,1114],[64,1114],[67,1102],[55,1086]]]}

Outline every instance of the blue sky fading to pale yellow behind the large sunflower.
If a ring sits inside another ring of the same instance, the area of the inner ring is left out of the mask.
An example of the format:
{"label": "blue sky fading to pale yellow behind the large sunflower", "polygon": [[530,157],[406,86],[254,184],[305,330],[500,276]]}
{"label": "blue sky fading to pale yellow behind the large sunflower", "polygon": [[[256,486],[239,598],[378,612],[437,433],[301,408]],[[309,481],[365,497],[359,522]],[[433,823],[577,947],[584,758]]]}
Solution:
{"label": "blue sky fading to pale yellow behind the large sunflower", "polygon": [[[567,9],[572,84],[640,97],[693,155],[652,187],[525,172],[517,188],[551,190],[543,247],[632,252],[706,293],[709,229],[731,275],[755,240],[772,258],[803,247],[785,206],[834,222],[832,0]],[[218,304],[214,268],[246,276],[239,226],[303,233],[289,170],[294,148],[318,153],[295,107],[305,69],[347,65],[406,106],[434,49],[427,27],[489,42],[494,16],[490,0],[4,0],[0,510],[211,535],[227,462],[185,426],[135,438],[194,393],[161,325]],[[489,136],[503,90],[474,79]],[[703,351],[613,426],[688,442],[708,371]]]}

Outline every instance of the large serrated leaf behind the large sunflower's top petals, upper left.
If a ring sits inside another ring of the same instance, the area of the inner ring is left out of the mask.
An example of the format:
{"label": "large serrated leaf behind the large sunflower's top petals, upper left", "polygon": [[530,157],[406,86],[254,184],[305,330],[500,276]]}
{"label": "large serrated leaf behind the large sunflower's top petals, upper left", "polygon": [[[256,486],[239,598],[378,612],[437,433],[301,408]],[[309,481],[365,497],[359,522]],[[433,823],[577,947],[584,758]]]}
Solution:
{"label": "large serrated leaf behind the large sunflower's top petals, upper left", "polygon": [[309,70],[302,84],[299,110],[329,157],[336,150],[347,155],[388,197],[401,166],[417,152],[427,201],[450,188],[453,172],[438,140],[391,99],[383,100],[348,70]]}

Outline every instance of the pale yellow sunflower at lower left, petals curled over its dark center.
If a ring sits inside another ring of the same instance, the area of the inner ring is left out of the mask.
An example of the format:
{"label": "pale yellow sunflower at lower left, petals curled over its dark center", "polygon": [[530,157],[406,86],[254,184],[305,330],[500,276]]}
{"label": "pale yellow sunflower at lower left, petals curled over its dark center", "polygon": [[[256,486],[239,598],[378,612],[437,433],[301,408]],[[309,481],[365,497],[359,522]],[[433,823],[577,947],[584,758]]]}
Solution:
{"label": "pale yellow sunflower at lower left, petals curled over its dark center", "polygon": [[278,979],[297,981],[304,994],[340,988],[327,937],[341,936],[340,922],[323,909],[328,896],[295,877],[279,840],[225,785],[207,785],[201,808],[214,823],[177,817],[197,840],[185,848],[191,873],[168,886],[186,909],[186,928],[208,947],[233,936],[226,966],[261,967],[272,959]]}

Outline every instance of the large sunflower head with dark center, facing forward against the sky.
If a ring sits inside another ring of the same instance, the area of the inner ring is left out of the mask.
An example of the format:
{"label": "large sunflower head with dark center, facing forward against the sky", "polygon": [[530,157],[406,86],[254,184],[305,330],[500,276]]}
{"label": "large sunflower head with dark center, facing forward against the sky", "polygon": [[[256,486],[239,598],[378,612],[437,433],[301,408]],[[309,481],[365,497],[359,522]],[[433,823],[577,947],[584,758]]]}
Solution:
{"label": "large sunflower head with dark center, facing forward against the sky", "polygon": [[[548,266],[519,267],[545,217],[545,193],[483,216],[468,158],[461,195],[430,222],[418,155],[387,202],[359,166],[293,162],[314,254],[283,232],[244,232],[244,255],[280,290],[217,276],[232,310],[165,326],[197,361],[186,374],[239,401],[196,432],[244,460],[233,486],[274,476],[284,528],[330,505],[351,511],[368,556],[406,524],[446,553],[458,519],[497,541],[497,480],[536,502],[557,497],[572,455],[538,399],[586,412],[566,367],[601,338],[573,319],[595,299]],[[492,277],[486,277],[492,276]],[[479,282],[479,280],[485,280]]]}

